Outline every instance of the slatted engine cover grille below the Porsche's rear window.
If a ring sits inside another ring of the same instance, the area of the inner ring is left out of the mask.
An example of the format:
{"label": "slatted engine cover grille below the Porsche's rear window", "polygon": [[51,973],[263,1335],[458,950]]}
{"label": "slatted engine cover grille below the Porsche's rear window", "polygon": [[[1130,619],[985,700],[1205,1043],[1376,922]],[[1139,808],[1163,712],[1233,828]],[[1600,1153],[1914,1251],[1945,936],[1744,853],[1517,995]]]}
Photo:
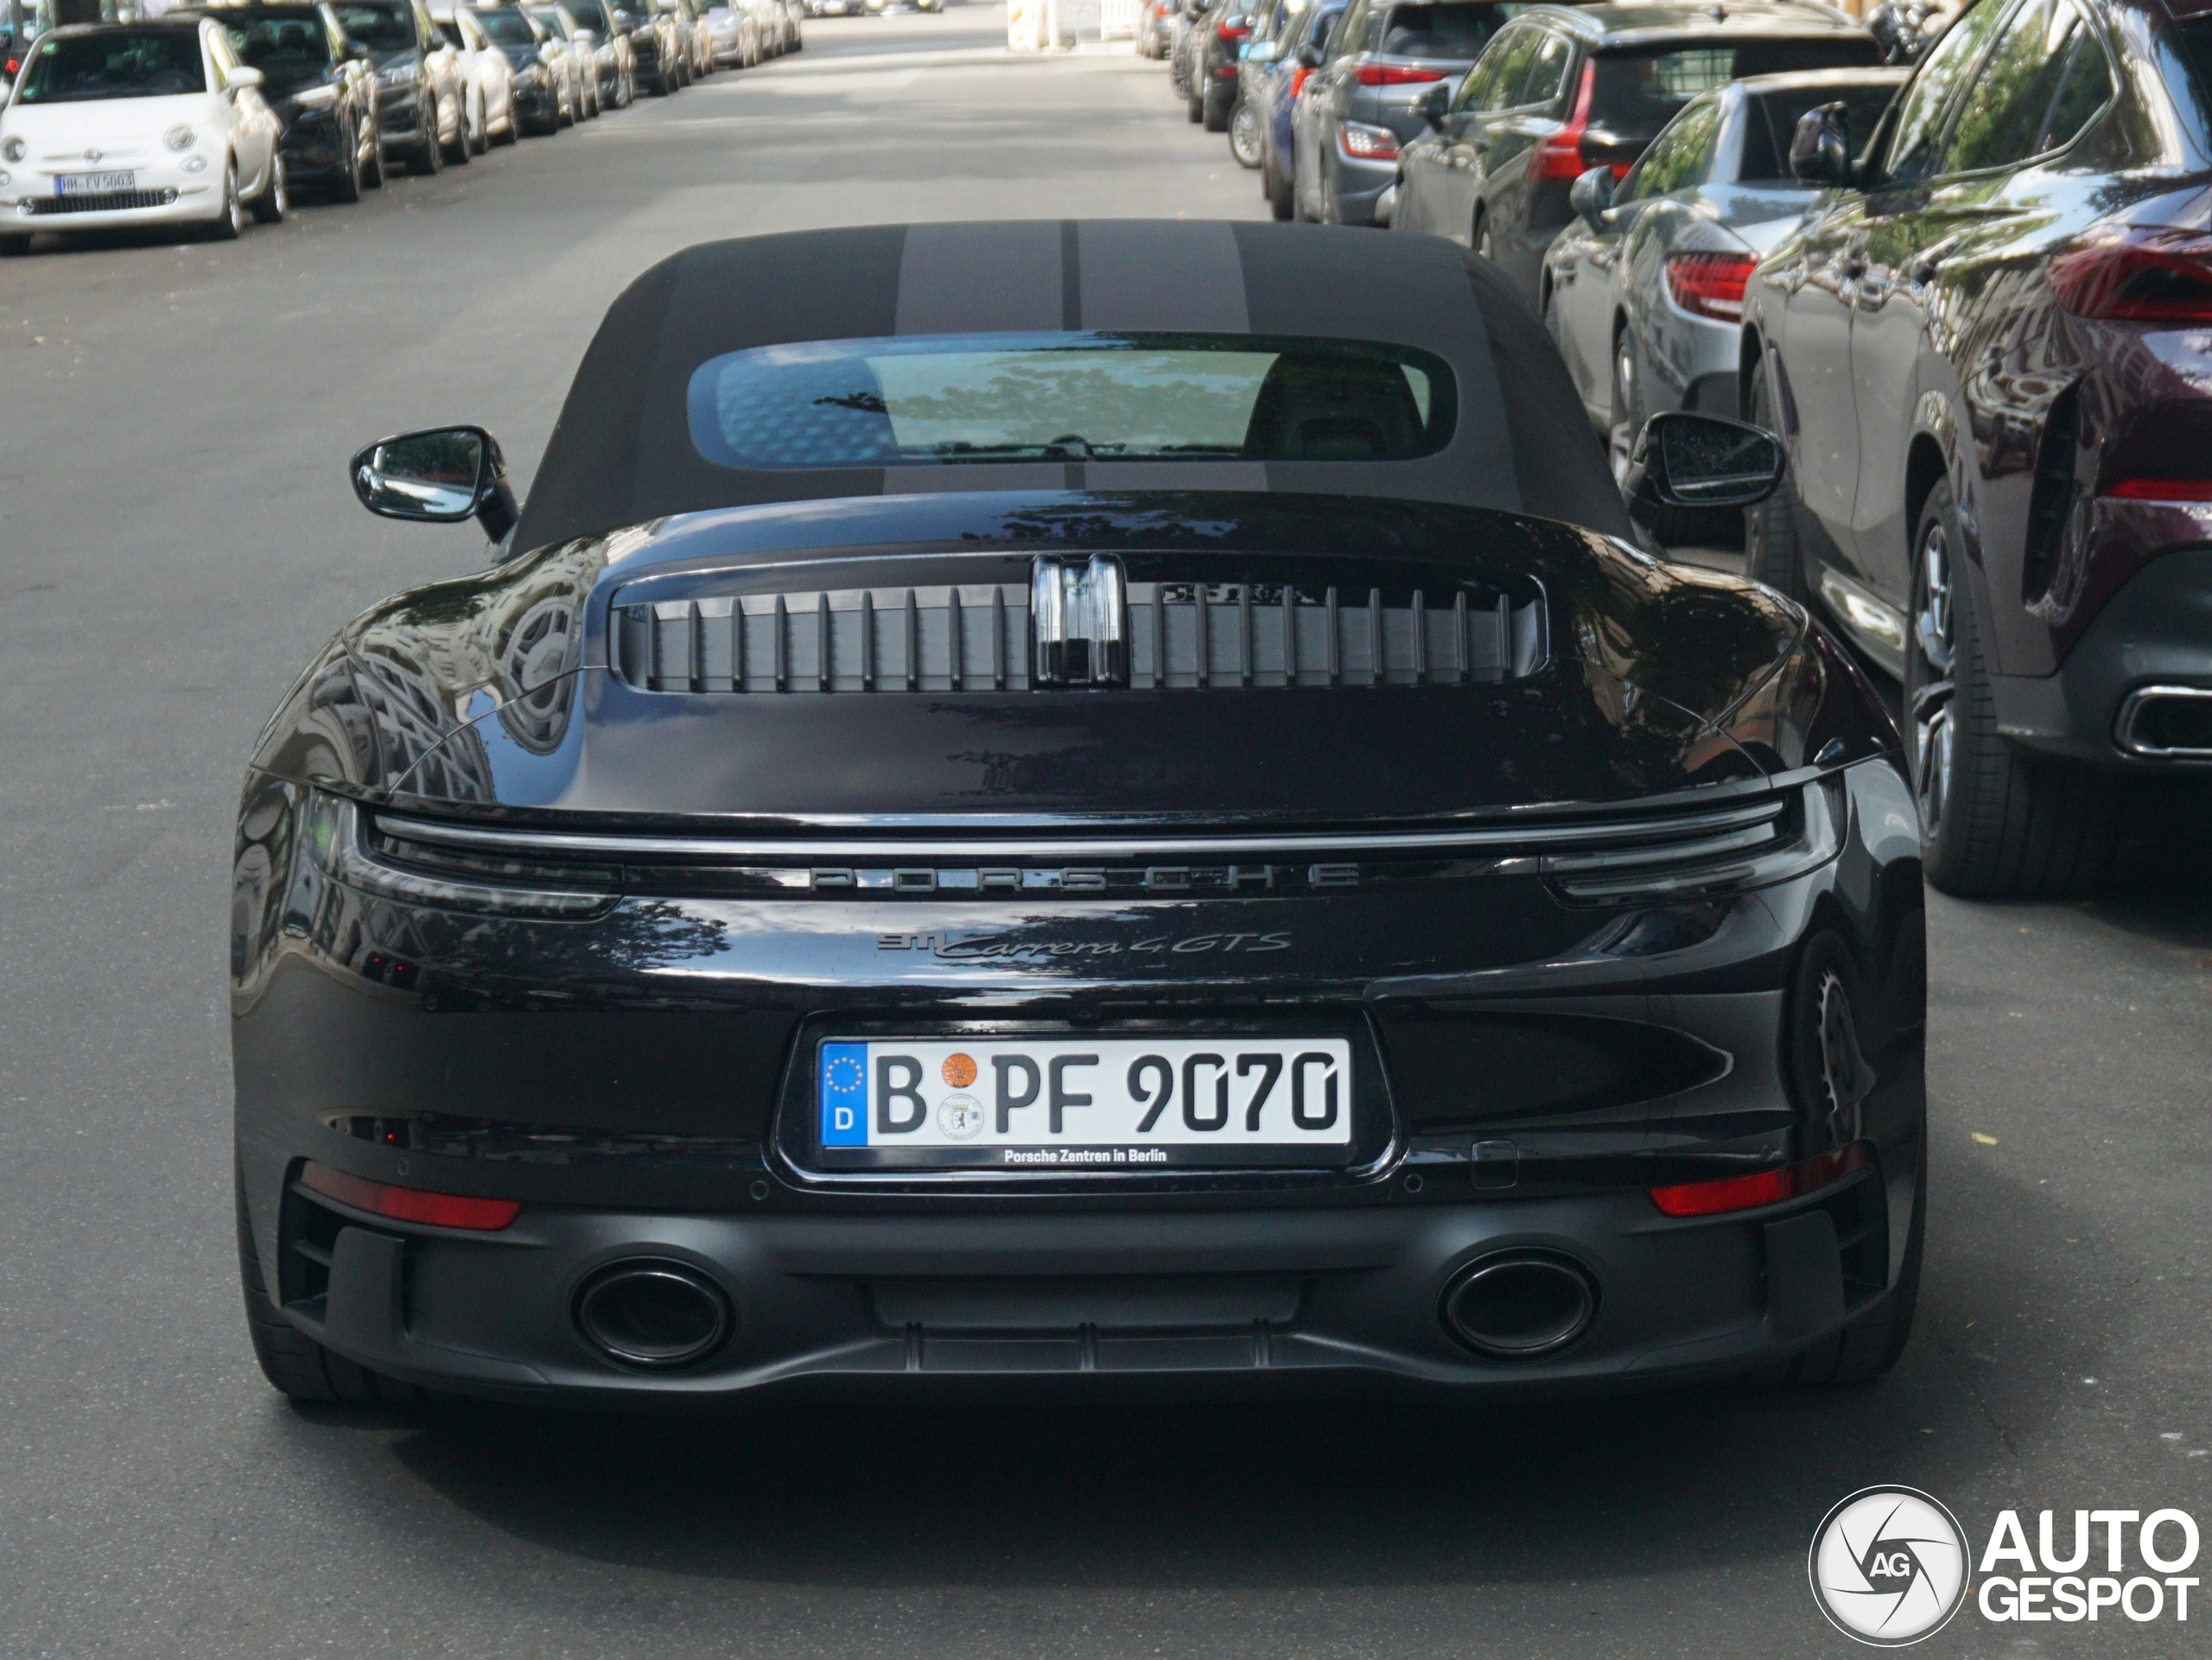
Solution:
{"label": "slatted engine cover grille below the Porsche's rear window", "polygon": [[[1535,673],[1542,593],[1130,582],[1128,688],[1458,686]],[[1031,691],[1031,584],[617,602],[615,675],[653,693]]]}

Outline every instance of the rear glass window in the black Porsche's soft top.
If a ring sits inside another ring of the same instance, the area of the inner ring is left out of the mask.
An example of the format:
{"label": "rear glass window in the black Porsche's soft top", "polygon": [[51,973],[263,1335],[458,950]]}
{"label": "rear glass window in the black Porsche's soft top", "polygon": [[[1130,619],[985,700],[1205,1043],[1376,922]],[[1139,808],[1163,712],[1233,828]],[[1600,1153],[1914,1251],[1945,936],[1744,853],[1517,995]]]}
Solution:
{"label": "rear glass window in the black Porsche's soft top", "polygon": [[1442,359],[1261,334],[914,334],[730,352],[690,378],[721,467],[1409,460],[1451,440]]}

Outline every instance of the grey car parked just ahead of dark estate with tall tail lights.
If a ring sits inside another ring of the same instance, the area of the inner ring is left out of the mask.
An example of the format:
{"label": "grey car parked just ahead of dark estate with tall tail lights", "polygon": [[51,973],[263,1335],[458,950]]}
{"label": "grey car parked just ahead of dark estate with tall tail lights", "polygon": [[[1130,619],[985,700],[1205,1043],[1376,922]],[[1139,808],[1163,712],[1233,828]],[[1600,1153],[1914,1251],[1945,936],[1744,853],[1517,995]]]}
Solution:
{"label": "grey car parked just ahead of dark estate with tall tail lights", "polygon": [[[1398,148],[1425,131],[1422,93],[1451,93],[1520,7],[1498,0],[1352,0],[1292,104],[1292,204],[1301,219],[1389,224]],[[1380,215],[1378,215],[1380,208]]]}

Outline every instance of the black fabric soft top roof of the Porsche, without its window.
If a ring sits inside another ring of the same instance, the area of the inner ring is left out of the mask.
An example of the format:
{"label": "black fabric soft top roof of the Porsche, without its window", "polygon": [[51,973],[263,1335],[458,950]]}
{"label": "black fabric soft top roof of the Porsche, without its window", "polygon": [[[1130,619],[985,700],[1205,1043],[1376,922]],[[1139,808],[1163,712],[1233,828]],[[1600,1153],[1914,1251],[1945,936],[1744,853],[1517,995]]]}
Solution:
{"label": "black fabric soft top roof of the Porsche, without its window", "polygon": [[[1091,460],[737,469],[690,438],[723,352],[1026,330],[1383,341],[1444,359],[1451,443],[1418,460]],[[522,509],[542,547],[752,502],[942,489],[1265,489],[1458,502],[1628,536],[1604,449],[1528,308],[1438,237],[1181,219],[869,226],[688,248],[608,308]]]}

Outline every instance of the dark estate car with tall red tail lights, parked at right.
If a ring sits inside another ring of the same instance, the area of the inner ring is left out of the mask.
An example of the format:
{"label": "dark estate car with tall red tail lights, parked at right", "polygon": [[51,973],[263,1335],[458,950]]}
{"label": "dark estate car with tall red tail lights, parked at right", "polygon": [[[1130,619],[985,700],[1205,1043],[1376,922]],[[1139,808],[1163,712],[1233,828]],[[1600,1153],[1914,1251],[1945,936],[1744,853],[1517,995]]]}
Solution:
{"label": "dark estate car with tall red tail lights, parked at right", "polygon": [[1391,224],[1471,246],[1535,305],[1593,166],[1628,173],[1692,97],[1743,75],[1876,64],[1874,35],[1825,7],[1528,7],[1458,95],[1422,104]]}

